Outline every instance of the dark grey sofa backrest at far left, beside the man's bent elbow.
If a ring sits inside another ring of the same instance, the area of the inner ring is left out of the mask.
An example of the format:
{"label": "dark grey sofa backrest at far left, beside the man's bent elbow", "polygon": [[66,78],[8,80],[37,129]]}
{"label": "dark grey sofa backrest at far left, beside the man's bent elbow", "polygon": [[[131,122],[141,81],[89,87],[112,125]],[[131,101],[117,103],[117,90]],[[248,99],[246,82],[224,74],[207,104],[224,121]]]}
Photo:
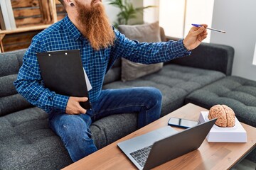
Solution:
{"label": "dark grey sofa backrest at far left, beside the man's bent elbow", "polygon": [[0,53],[0,116],[32,106],[17,93],[14,86],[25,51],[26,49]]}

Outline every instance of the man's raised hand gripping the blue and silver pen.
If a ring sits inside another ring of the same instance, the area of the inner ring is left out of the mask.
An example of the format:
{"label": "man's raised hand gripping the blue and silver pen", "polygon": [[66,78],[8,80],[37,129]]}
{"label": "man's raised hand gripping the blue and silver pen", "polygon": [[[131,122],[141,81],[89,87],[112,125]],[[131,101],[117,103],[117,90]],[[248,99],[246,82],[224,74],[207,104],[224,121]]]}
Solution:
{"label": "man's raised hand gripping the blue and silver pen", "polygon": [[186,47],[187,50],[195,49],[206,39],[206,27],[206,24],[201,24],[201,27],[198,28],[194,26],[189,30],[188,35],[186,35],[186,38],[183,40],[184,47]]}

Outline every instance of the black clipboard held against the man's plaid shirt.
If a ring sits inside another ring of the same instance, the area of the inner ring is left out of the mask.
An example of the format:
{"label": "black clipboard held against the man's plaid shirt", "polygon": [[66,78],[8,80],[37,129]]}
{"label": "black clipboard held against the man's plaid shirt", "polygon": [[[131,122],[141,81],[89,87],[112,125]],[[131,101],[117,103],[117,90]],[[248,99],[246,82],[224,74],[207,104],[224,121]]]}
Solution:
{"label": "black clipboard held against the man's plaid shirt", "polygon": [[87,97],[80,106],[91,108],[80,50],[39,52],[37,58],[46,88],[65,96]]}

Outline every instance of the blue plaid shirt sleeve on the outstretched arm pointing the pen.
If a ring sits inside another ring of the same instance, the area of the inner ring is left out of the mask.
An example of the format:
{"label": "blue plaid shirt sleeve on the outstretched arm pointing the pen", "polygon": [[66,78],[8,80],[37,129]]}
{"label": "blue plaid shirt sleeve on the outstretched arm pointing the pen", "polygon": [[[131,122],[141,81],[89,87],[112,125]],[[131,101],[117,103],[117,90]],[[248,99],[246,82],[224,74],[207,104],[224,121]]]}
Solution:
{"label": "blue plaid shirt sleeve on the outstretched arm pointing the pen", "polygon": [[124,57],[142,64],[152,64],[191,55],[191,51],[184,47],[183,40],[139,43],[137,40],[129,40],[117,30],[114,31],[116,35],[113,50],[115,57]]}

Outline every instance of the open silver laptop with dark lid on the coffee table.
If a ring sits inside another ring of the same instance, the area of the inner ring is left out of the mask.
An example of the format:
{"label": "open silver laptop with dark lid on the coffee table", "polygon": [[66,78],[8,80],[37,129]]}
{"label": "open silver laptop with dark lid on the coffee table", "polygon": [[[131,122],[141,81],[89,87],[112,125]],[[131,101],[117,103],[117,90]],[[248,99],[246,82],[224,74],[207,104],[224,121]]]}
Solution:
{"label": "open silver laptop with dark lid on the coffee table", "polygon": [[198,149],[217,119],[181,132],[170,126],[159,128],[117,145],[138,169],[152,169]]}

